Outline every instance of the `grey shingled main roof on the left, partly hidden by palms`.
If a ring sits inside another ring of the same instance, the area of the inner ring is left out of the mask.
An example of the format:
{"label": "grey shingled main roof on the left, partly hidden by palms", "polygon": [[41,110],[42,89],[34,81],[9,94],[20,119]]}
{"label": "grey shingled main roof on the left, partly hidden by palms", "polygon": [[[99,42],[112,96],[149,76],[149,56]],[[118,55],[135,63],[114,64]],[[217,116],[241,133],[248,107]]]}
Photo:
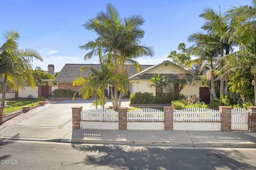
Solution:
{"label": "grey shingled main roof on the left, partly hidden by palms", "polygon": [[[141,70],[145,70],[153,65],[140,65]],[[54,79],[54,82],[70,83],[73,82],[77,77],[88,77],[90,74],[89,69],[80,71],[81,67],[92,67],[93,69],[100,69],[100,64],[65,64],[61,69],[60,73]],[[138,73],[134,65],[126,65],[128,77]]]}

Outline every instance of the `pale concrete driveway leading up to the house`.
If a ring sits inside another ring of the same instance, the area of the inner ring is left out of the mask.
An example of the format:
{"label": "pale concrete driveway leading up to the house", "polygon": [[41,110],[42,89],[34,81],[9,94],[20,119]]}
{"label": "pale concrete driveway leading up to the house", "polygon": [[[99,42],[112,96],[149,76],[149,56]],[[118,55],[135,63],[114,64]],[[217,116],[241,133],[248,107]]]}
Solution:
{"label": "pale concrete driveway leading up to the house", "polygon": [[[93,108],[92,99],[87,100],[65,100],[61,103],[52,104],[52,106],[22,120],[15,126],[27,126],[38,128],[61,128],[71,122],[71,107],[83,106],[83,110]],[[123,107],[129,106],[129,100],[125,99],[122,103]],[[109,101],[106,107],[111,106]]]}

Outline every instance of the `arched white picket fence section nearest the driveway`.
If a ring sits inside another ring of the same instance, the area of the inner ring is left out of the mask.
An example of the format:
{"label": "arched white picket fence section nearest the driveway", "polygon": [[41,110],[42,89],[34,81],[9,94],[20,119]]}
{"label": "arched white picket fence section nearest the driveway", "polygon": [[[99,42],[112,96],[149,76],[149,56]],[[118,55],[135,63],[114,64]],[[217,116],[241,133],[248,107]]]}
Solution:
{"label": "arched white picket fence section nearest the driveway", "polygon": [[118,122],[118,112],[111,109],[88,109],[81,112],[82,121]]}

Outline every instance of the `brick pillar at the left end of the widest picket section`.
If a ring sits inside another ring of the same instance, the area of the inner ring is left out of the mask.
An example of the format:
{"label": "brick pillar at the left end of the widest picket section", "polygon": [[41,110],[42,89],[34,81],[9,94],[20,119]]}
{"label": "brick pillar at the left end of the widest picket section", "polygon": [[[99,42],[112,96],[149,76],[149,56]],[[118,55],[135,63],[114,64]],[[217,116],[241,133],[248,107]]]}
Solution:
{"label": "brick pillar at the left end of the widest picket section", "polygon": [[173,108],[164,107],[164,130],[172,131],[173,130]]}

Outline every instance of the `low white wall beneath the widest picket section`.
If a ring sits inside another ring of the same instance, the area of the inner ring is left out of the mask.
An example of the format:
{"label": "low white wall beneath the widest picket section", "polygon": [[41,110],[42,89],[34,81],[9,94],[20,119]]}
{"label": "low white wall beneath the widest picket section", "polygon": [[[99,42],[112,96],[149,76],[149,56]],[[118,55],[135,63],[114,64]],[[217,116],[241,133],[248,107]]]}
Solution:
{"label": "low white wall beneath the widest picket section", "polygon": [[173,122],[173,130],[179,130],[179,131],[221,131],[221,123]]}

